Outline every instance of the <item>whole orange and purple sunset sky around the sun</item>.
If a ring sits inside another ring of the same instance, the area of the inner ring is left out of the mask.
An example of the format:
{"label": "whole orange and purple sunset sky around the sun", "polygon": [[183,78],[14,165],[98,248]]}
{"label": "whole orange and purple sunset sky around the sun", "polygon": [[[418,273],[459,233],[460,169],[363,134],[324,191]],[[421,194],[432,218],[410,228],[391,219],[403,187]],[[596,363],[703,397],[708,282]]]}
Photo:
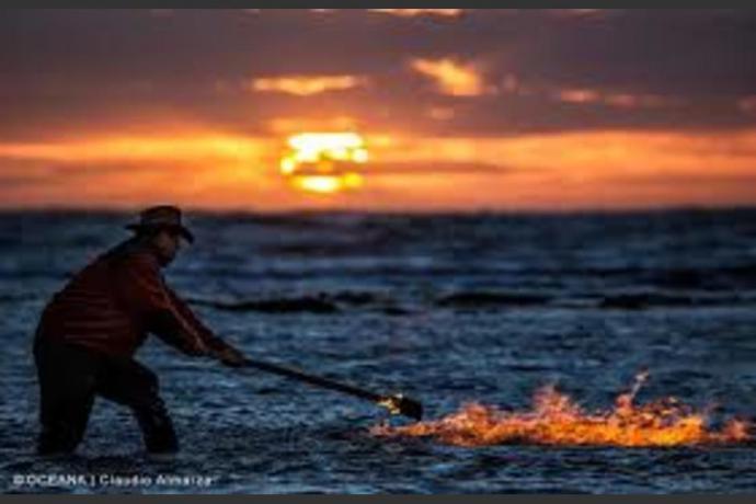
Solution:
{"label": "whole orange and purple sunset sky around the sun", "polygon": [[[754,54],[747,10],[7,10],[0,206],[755,205]],[[302,133],[359,183],[283,174]]]}

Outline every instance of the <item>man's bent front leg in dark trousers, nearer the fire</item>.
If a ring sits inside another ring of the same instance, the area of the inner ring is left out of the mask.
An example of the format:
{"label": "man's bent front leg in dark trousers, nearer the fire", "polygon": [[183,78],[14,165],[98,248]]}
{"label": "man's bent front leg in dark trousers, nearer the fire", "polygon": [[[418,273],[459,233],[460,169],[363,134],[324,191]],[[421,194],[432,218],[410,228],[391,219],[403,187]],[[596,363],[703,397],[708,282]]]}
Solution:
{"label": "man's bent front leg in dark trousers, nearer the fire", "polygon": [[108,358],[99,385],[98,393],[131,409],[148,451],[179,450],[173,423],[160,398],[154,373],[130,358]]}

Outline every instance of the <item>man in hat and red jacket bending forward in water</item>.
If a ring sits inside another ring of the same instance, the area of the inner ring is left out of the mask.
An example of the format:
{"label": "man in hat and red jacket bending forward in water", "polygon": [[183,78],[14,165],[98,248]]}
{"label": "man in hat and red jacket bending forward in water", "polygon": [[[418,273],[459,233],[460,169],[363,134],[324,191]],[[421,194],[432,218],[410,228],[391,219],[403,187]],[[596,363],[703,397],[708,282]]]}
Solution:
{"label": "man in hat and red jacket bending forward in water", "polygon": [[81,442],[95,396],[131,409],[150,453],[179,444],[158,393],[158,379],[134,354],[152,333],[192,356],[240,366],[244,356],[213,334],[165,285],[180,239],[193,242],[181,210],[144,210],[135,236],[77,273],[39,320],[34,358],[42,431],[37,453],[72,453]]}

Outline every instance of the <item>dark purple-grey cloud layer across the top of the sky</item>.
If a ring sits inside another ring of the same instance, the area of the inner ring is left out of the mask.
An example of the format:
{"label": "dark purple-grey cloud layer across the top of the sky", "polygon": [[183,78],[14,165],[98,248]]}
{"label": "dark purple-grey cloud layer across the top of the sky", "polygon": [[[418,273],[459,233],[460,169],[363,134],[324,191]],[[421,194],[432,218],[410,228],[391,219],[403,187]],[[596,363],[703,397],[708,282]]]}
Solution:
{"label": "dark purple-grey cloud layer across the top of the sky", "polygon": [[[272,9],[175,10],[156,19],[147,10],[8,10],[0,15],[0,137],[149,131],[169,121],[259,135],[276,117],[300,115],[350,116],[419,135],[754,125],[745,100],[756,82],[756,13],[562,14],[470,9],[400,19],[365,9]],[[438,66],[422,73],[408,58],[449,59],[470,70],[462,75],[472,84],[444,84],[434,77]],[[253,90],[255,78],[289,76],[363,80],[343,91],[313,87],[305,95],[317,108],[307,110],[302,94]],[[561,90],[600,99],[568,103]],[[447,96],[466,96],[453,118],[427,113],[450,106]]]}

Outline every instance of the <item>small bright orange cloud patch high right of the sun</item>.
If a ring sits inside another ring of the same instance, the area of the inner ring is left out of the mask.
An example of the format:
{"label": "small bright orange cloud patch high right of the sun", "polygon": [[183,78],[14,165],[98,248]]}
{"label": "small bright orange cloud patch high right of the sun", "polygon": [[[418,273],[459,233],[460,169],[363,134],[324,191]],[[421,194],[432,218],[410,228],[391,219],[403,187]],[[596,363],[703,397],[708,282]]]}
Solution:
{"label": "small bright orange cloud patch high right of the sun", "polygon": [[483,75],[473,64],[451,58],[415,58],[412,70],[435,81],[438,91],[451,96],[480,96],[486,92]]}

